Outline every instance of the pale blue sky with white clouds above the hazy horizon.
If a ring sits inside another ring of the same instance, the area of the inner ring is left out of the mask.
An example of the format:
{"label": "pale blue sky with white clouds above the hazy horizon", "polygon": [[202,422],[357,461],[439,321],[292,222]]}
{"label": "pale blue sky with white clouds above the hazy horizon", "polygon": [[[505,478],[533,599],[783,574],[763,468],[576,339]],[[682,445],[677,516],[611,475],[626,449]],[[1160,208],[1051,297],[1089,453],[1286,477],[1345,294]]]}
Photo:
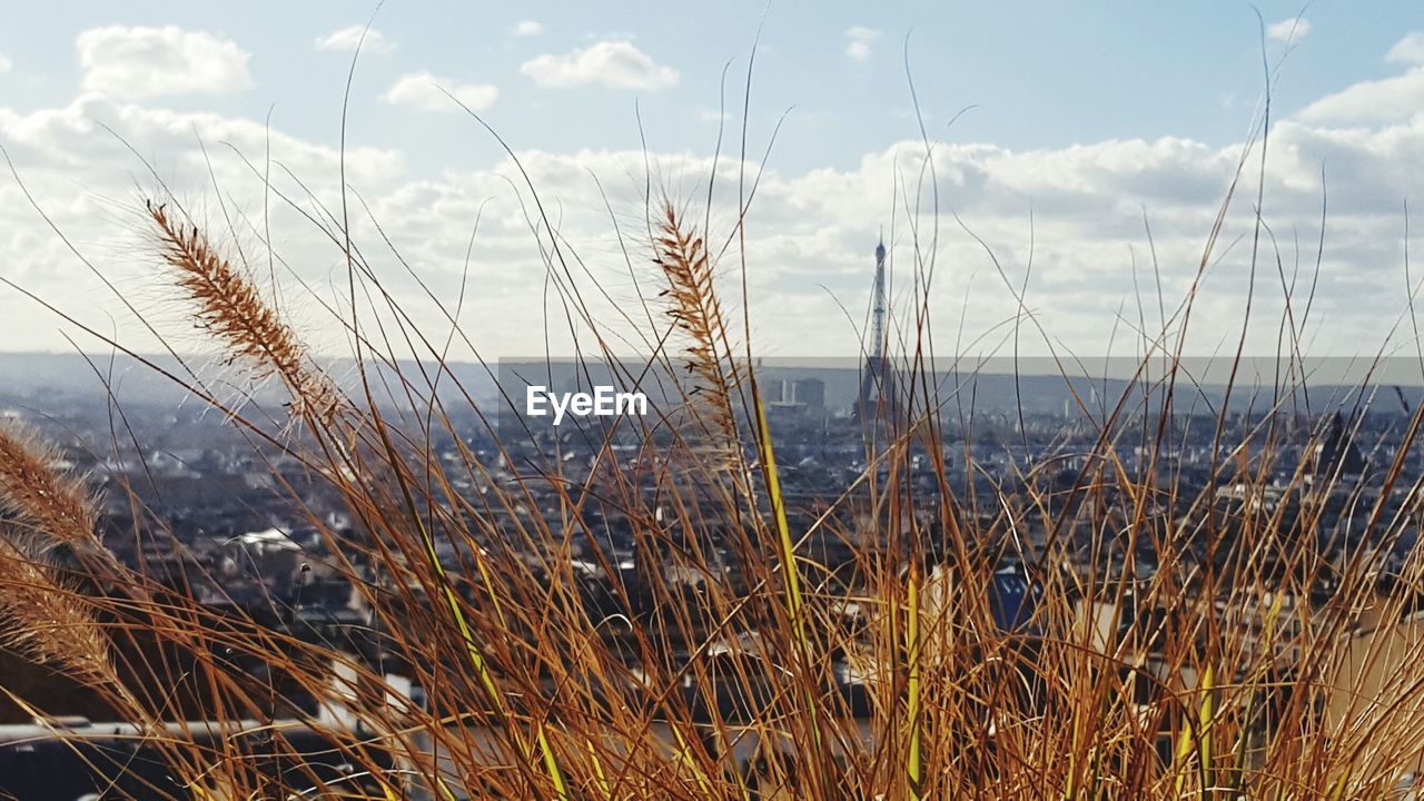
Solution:
{"label": "pale blue sky with white clouds above the hazy horizon", "polygon": [[[722,244],[739,174],[759,175],[745,295],[736,248],[715,252],[758,353],[854,355],[881,235],[893,335],[927,292],[940,353],[1002,355],[1017,326],[1025,352],[1131,355],[1179,335],[1193,292],[1193,353],[1243,329],[1273,353],[1283,319],[1313,353],[1415,346],[1413,3],[3,0],[0,20],[0,278],[137,351],[202,348],[144,237],[159,184],[313,348],[349,349],[320,217],[343,103],[353,237],[427,335],[456,316],[457,356],[645,348],[666,325],[646,187]],[[572,331],[561,285],[590,306]],[[14,288],[0,309],[0,349],[101,349]]]}

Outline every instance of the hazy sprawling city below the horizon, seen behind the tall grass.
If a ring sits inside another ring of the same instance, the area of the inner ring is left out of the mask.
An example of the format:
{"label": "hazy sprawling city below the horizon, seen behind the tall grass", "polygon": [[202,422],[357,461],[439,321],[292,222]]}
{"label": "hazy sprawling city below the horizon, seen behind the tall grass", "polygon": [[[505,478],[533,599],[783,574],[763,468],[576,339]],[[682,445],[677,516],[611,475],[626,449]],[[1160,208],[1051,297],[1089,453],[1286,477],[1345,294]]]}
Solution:
{"label": "hazy sprawling city below the horizon, seen behind the tall grass", "polygon": [[[53,362],[64,368],[73,368],[73,363],[64,362],[77,361],[57,356],[9,359]],[[544,375],[557,376],[570,365],[544,365]],[[520,375],[527,368],[521,362],[507,369]],[[584,365],[585,376],[614,372],[607,365],[602,365],[602,373],[598,366]],[[1408,448],[1405,438],[1411,423],[1417,422],[1424,395],[1420,388],[1319,388],[1317,398],[1329,398],[1330,403],[1313,413],[1302,408],[1300,400],[1307,395],[1304,388],[1294,388],[1297,398],[1293,402],[1277,402],[1269,412],[1212,416],[1203,406],[1200,413],[1172,415],[1165,435],[1152,430],[1163,418],[1159,406],[1145,400],[1153,391],[1141,392],[1135,396],[1136,409],[1119,410],[1121,422],[1115,430],[1121,433],[1111,443],[1111,453],[1116,466],[1142,486],[1172,487],[1171,502],[1153,506],[1148,524],[1178,532],[1200,532],[1213,524],[1225,537],[1188,536],[1185,553],[1168,556],[1158,553],[1153,543],[1145,539],[1134,543],[1129,537],[1102,537],[1096,523],[1102,517],[1131,527],[1132,506],[1128,499],[1105,495],[1096,497],[1099,506],[1089,510],[1082,499],[1075,497],[1081,492],[1081,476],[1095,469],[1094,460],[1104,459],[1102,432],[1106,429],[1102,420],[1112,413],[1105,406],[1088,408],[1085,398],[1096,400],[1094,385],[1105,392],[1116,391],[1122,399],[1134,398],[1132,392],[1122,391],[1121,381],[1075,382],[1062,376],[1037,376],[1034,392],[1044,395],[1037,398],[1035,405],[1061,406],[1061,412],[1025,413],[1010,405],[990,405],[965,412],[958,423],[944,425],[937,442],[918,440],[909,448],[899,482],[916,499],[913,507],[903,512],[914,519],[903,529],[903,534],[913,534],[911,542],[904,536],[871,537],[866,533],[879,529],[867,523],[876,512],[866,477],[889,480],[890,466],[874,460],[877,456],[883,459],[890,448],[886,438],[896,436],[887,429],[894,418],[886,416],[884,410],[887,405],[911,403],[906,393],[909,388],[896,385],[893,376],[897,372],[891,359],[870,355],[860,371],[817,366],[803,368],[797,376],[799,371],[793,366],[763,366],[762,372],[780,376],[770,381],[766,415],[780,462],[787,519],[800,537],[797,550],[824,570],[816,590],[834,597],[849,599],[869,591],[864,584],[866,553],[887,554],[901,564],[901,570],[909,560],[918,559],[933,583],[941,567],[953,560],[954,547],[964,544],[954,543],[953,532],[943,524],[944,493],[963,499],[953,502],[958,505],[957,515],[977,516],[977,530],[984,532],[984,540],[974,547],[984,549],[983,556],[990,560],[993,573],[985,596],[990,619],[1002,636],[1020,643],[1032,643],[1044,636],[1038,630],[1035,604],[1044,603],[1045,593],[1064,590],[1058,580],[1045,580],[1044,570],[1071,574],[1074,586],[1079,587],[1094,580],[1106,586],[1146,586],[1162,569],[1165,556],[1178,563],[1183,559],[1193,563],[1215,559],[1219,567],[1230,570],[1230,559],[1236,553],[1230,537],[1242,536],[1232,532],[1249,529],[1253,519],[1269,520],[1274,536],[1292,543],[1289,550],[1274,556],[1279,562],[1269,567],[1272,570],[1299,569],[1302,553],[1312,554],[1320,564],[1343,566],[1361,549],[1387,542],[1387,547],[1370,553],[1370,582],[1381,599],[1397,594],[1396,587],[1408,582],[1410,554],[1415,543],[1413,522],[1420,515],[1413,487],[1424,479],[1424,453]],[[816,376],[830,376],[833,386],[853,388],[856,395],[849,402],[827,403],[827,381]],[[940,376],[938,383],[943,388],[951,379],[984,386],[988,396],[994,395],[988,388],[995,383],[1015,383],[1012,375],[961,378],[957,373]],[[580,383],[578,378],[568,381],[568,386]],[[1075,383],[1089,385],[1091,392],[1074,392]],[[890,388],[889,392],[886,388]],[[144,391],[135,395],[142,396]],[[164,393],[159,391],[159,395]],[[1000,395],[1012,398],[1002,386]],[[1223,396],[1222,388],[1198,388],[1198,398],[1212,396]],[[390,633],[383,631],[380,616],[353,586],[353,567],[356,582],[376,582],[379,562],[349,553],[336,559],[329,550],[333,532],[340,542],[369,542],[373,536],[353,520],[339,492],[313,480],[308,467],[283,453],[283,448],[255,446],[251,436],[235,432],[222,416],[201,406],[175,406],[171,399],[124,403],[125,439],[120,440],[112,430],[114,408],[94,398],[93,393],[61,393],[36,383],[27,391],[11,389],[6,395],[4,416],[63,443],[61,469],[85,475],[94,486],[101,499],[101,543],[127,569],[191,599],[216,619],[231,617],[234,626],[259,621],[282,636],[335,648],[360,660],[369,670],[390,671],[387,678],[419,697],[419,686],[400,676],[399,667],[392,667],[400,661],[394,657],[399,648],[386,644]],[[662,403],[668,399],[662,398]],[[863,412],[877,403],[879,416]],[[493,398],[490,405],[494,405]],[[525,418],[523,422],[533,420]],[[460,463],[464,453],[491,465],[478,480],[453,482],[456,492],[467,500],[478,503],[491,492],[525,493],[525,505],[493,510],[473,529],[471,533],[477,532],[474,543],[490,549],[498,542],[515,542],[530,519],[538,519],[550,529],[561,527],[568,487],[575,487],[592,500],[580,500],[580,536],[570,539],[561,562],[553,563],[551,556],[538,547],[515,549],[515,557],[545,586],[572,579],[580,603],[594,619],[624,619],[629,626],[655,629],[672,664],[686,667],[701,663],[703,667],[713,666],[709,670],[715,673],[716,651],[701,648],[702,653],[698,653],[699,641],[715,637],[712,621],[662,619],[659,593],[671,590],[695,596],[709,582],[733,593],[746,593],[752,579],[739,564],[745,552],[732,544],[725,530],[716,533],[718,526],[685,532],[661,543],[649,542],[639,536],[638,522],[624,505],[598,497],[598,486],[608,475],[642,475],[637,479],[639,492],[655,515],[662,513],[655,506],[659,485],[644,463],[645,459],[656,459],[649,456],[649,448],[666,448],[656,442],[655,433],[639,436],[627,419],[597,420],[592,423],[597,430],[591,429],[588,419],[570,420],[565,426],[553,425],[550,419],[538,423],[543,428],[524,426],[523,438],[510,436],[508,420],[491,429],[474,409],[464,409],[449,418],[447,439],[431,442],[430,458],[439,462]],[[618,443],[609,448],[607,438],[619,426]],[[501,438],[496,440],[491,435]],[[1152,446],[1152,436],[1162,436],[1163,443]],[[84,445],[104,440],[114,443],[111,452],[100,453]],[[1407,453],[1407,458],[1396,466],[1397,489],[1381,493],[1377,476],[1391,467],[1388,460],[1398,453]],[[608,455],[615,462],[605,462]],[[755,453],[746,456],[752,459]],[[550,463],[558,465],[560,483],[547,482],[547,475],[538,467]],[[521,465],[528,469],[521,470]],[[1223,465],[1233,466],[1230,480],[1220,479]],[[698,497],[695,490],[692,497]],[[715,499],[702,497],[698,503],[705,506],[703,513],[709,517],[718,516]],[[1005,510],[1002,505],[1007,503],[1024,506]],[[1025,510],[1035,503],[1045,505],[1047,513],[1027,516]],[[1371,513],[1383,515],[1393,520],[1391,529],[1400,527],[1410,534],[1380,537]],[[1055,519],[1067,523],[1055,527]],[[1012,527],[1011,539],[1005,539],[1005,526]],[[702,542],[695,542],[699,537]],[[468,547],[470,540],[453,537],[433,543],[440,564],[451,573],[467,570],[467,554],[461,552]],[[1101,549],[1109,550],[1106,559]],[[696,553],[696,559],[689,560],[689,553]],[[693,564],[689,566],[689,562]],[[712,566],[716,574],[708,574]],[[457,584],[457,589],[470,603],[478,603],[473,584]],[[1210,590],[1188,586],[1182,591]],[[1235,603],[1235,587],[1223,590],[1220,603]],[[1302,591],[1302,597],[1290,599],[1287,604],[1289,620],[1274,623],[1289,627],[1297,640],[1309,637],[1312,627],[1337,626],[1329,617],[1336,614],[1349,619],[1347,630],[1361,641],[1376,636],[1400,636],[1388,627],[1387,619],[1381,619],[1381,614],[1391,614],[1384,611],[1387,604],[1383,600],[1361,606],[1358,599],[1353,599],[1346,610],[1340,610],[1339,593],[1346,590],[1331,570],[1312,570],[1310,583]],[[1134,606],[1139,597],[1143,603]],[[1411,600],[1393,614],[1413,621],[1415,597],[1424,600],[1424,596],[1410,596]],[[1111,651],[1121,641],[1131,640],[1132,621],[1161,619],[1172,611],[1162,597],[1152,594],[1128,590],[1125,599],[1104,601],[1089,593],[1069,599],[1074,614],[1088,620],[1088,626],[1098,631],[1091,639],[1094,646]],[[1262,614],[1262,610],[1233,611]],[[864,627],[866,613],[853,601],[837,606],[837,614],[852,626]],[[1312,621],[1314,614],[1329,623]],[[1253,626],[1259,634],[1262,621]],[[619,639],[614,631],[608,637],[614,641]],[[629,670],[638,670],[632,630],[624,631],[622,639],[614,650],[624,654]],[[869,641],[859,644],[870,648]],[[719,647],[739,646],[729,641]],[[1171,654],[1151,641],[1139,647],[1138,658],[1155,676],[1168,677],[1172,671]],[[1279,668],[1286,673],[1293,670],[1289,651],[1302,647],[1300,643],[1274,647],[1283,651],[1277,657]],[[874,696],[867,686],[876,681],[874,673],[867,671],[866,654],[857,654],[849,643],[840,644],[839,650],[840,656],[832,666],[834,688],[853,717],[867,720]],[[14,656],[6,660],[7,687],[51,698],[48,711],[67,727],[80,725],[83,730],[93,725],[85,721],[110,720],[118,714],[103,697],[85,691],[63,674]],[[248,676],[268,677],[268,681],[276,670],[256,656],[248,656],[236,667]],[[1394,667],[1381,664],[1371,670],[1377,674],[1374,681],[1383,681]],[[773,693],[772,688],[748,687],[736,680],[716,687],[711,698],[702,684],[689,683],[684,691],[695,720],[703,725],[748,714],[748,704],[768,703]],[[1151,697],[1149,690],[1136,691],[1143,701]],[[175,694],[171,703],[184,710],[184,717],[205,717],[201,696],[182,698]],[[696,711],[708,703],[721,708],[716,713]],[[290,715],[293,720],[309,715],[342,723],[340,714],[329,704],[329,698],[319,693],[289,686],[272,690],[262,714],[278,718]],[[4,704],[0,714],[4,718],[0,725],[9,725],[16,733],[33,730],[24,707]],[[1334,714],[1343,713],[1336,710]],[[11,737],[23,738],[24,734]],[[128,735],[120,734],[114,741],[124,737]],[[1165,731],[1162,737],[1161,747],[1171,753]],[[298,734],[292,734],[290,740],[302,743]],[[319,748],[323,743],[315,738],[310,745]],[[750,760],[755,748],[743,744],[739,753]]]}

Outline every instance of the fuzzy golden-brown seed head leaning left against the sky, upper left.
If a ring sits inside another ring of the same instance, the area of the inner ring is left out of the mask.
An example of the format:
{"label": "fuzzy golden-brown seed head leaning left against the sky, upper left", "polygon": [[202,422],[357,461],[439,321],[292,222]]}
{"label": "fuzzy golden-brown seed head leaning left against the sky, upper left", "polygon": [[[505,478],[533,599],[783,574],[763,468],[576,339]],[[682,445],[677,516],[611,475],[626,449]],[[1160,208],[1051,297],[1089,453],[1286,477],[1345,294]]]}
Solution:
{"label": "fuzzy golden-brown seed head leaning left against the sky, upper left", "polygon": [[252,279],[228,261],[192,224],[174,219],[167,204],[148,202],[159,254],[174,282],[188,294],[194,316],[235,361],[258,379],[275,376],[290,393],[293,418],[330,423],[342,405],[340,392],[316,369],[306,348],[282,316],[263,301]]}

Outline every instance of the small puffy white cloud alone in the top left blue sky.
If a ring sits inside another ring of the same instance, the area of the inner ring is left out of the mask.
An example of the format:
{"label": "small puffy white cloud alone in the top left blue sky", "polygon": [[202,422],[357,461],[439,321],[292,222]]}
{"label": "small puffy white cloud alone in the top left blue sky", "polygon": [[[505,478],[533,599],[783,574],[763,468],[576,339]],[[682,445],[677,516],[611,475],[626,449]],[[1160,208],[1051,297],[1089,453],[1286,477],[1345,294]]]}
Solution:
{"label": "small puffy white cloud alone in the top left blue sky", "polygon": [[252,86],[248,51],[174,26],[90,29],[74,41],[85,91],[115,100],[224,94]]}

